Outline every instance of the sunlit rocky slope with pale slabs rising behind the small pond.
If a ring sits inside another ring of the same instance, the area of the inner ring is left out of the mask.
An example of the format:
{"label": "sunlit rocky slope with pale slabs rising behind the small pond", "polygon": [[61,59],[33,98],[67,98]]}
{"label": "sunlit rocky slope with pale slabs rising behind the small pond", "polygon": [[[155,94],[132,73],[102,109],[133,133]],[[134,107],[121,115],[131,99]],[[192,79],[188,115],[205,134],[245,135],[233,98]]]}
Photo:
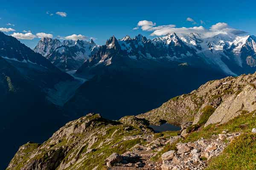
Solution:
{"label": "sunlit rocky slope with pale slabs rising behind the small pond", "polygon": [[223,124],[243,112],[252,112],[256,109],[255,84],[256,73],[212,80],[197,90],[172,98],[159,108],[138,117],[148,119],[151,124],[180,124],[187,121],[197,124],[206,116],[205,126]]}

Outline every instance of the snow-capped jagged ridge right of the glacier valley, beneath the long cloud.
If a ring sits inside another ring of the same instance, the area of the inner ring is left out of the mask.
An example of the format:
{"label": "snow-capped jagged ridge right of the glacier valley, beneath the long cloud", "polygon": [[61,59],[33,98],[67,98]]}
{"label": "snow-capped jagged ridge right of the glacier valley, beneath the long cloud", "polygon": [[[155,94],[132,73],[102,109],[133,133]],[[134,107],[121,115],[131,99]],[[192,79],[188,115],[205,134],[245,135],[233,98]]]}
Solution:
{"label": "snow-capped jagged ridge right of the glacier valley, beneath the long cloud", "polygon": [[[256,54],[255,36],[236,36],[234,34],[218,34],[214,37],[202,38],[200,34],[168,34],[165,37],[147,39],[141,34],[135,38],[126,36],[117,40],[114,36],[102,45],[77,71],[95,69],[99,65],[117,65],[122,59],[147,62],[186,62],[189,65],[221,70],[226,75],[237,76],[255,71]],[[140,66],[143,68],[143,66]],[[145,66],[144,66],[145,67]],[[152,66],[151,66],[152,67]]]}

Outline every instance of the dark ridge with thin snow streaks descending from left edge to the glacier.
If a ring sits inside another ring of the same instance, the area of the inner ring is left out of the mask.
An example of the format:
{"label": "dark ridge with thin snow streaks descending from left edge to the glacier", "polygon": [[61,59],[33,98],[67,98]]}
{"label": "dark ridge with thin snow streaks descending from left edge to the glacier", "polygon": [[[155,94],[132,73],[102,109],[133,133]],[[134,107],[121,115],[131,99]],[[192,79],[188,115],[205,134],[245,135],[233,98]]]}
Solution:
{"label": "dark ridge with thin snow streaks descending from left edge to the glacier", "polygon": [[41,54],[35,53],[16,38],[0,32],[0,57],[11,63],[24,77],[42,89],[52,88],[61,81],[73,77],[63,73]]}

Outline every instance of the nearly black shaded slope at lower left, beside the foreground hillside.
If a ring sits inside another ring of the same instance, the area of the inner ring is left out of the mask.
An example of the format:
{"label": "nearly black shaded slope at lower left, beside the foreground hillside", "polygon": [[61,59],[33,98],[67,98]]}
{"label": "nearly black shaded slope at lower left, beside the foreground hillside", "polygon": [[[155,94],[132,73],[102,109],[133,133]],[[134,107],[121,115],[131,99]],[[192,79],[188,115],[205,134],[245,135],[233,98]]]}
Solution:
{"label": "nearly black shaded slope at lower left, beside the foreground hillside", "polygon": [[[0,169],[5,169],[20,144],[44,141],[69,119],[49,102],[34,81],[0,57]],[[41,134],[39,134],[41,133]],[[8,140],[7,140],[8,139]]]}

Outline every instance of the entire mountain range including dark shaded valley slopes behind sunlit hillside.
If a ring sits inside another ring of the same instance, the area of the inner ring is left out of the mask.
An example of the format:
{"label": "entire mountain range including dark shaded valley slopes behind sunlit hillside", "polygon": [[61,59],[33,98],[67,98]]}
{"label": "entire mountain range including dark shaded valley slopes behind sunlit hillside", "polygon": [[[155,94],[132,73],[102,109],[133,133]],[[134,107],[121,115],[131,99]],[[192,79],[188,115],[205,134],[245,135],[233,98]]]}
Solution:
{"label": "entire mountain range including dark shaded valley slopes behind sunlit hillside", "polygon": [[42,38],[32,50],[0,32],[1,133],[12,140],[20,130],[15,143],[2,141],[13,148],[3,160],[27,139],[43,142],[71,119],[145,113],[209,80],[253,73],[255,59],[256,37],[249,35],[172,33],[151,40],[139,34],[113,36],[105,45]]}

